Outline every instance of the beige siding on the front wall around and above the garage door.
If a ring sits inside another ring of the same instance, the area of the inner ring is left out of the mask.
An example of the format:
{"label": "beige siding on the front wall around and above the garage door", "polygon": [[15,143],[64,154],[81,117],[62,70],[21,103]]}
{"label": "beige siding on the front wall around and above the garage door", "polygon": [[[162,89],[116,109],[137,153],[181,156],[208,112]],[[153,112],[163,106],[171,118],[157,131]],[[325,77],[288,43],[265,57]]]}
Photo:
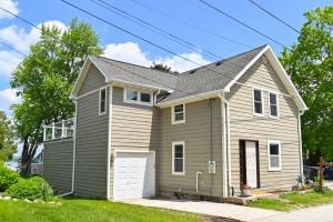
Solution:
{"label": "beige siding on the front wall around and above the garage door", "polygon": [[[155,151],[159,148],[158,108],[123,102],[123,88],[113,87],[111,150]],[[111,167],[113,181],[113,165]],[[113,193],[113,182],[110,182]]]}

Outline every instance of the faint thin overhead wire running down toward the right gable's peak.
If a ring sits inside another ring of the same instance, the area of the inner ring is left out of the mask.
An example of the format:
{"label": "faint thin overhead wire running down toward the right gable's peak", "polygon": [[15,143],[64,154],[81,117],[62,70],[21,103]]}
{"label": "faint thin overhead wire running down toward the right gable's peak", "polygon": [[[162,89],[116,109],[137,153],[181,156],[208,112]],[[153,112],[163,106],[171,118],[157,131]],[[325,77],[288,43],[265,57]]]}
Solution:
{"label": "faint thin overhead wire running down toward the right gable's peak", "polygon": [[138,4],[138,6],[140,6],[140,7],[142,7],[142,8],[145,8],[145,9],[148,9],[148,10],[150,10],[150,11],[153,11],[153,12],[155,12],[155,13],[159,13],[159,14],[163,16],[164,18],[172,19],[173,21],[176,21],[178,23],[182,23],[182,24],[184,24],[184,26],[186,26],[186,27],[190,27],[190,28],[193,28],[193,29],[195,29],[195,30],[198,30],[198,31],[201,31],[202,33],[205,33],[205,34],[215,37],[215,38],[218,38],[218,39],[220,39],[220,40],[229,41],[229,42],[232,42],[232,43],[234,43],[234,44],[239,44],[239,46],[245,47],[245,48],[248,48],[248,49],[252,49],[252,48],[253,48],[253,47],[251,47],[251,46],[249,46],[249,44],[245,44],[245,43],[243,43],[243,42],[240,42],[240,41],[230,39],[230,38],[228,38],[228,37],[221,36],[221,34],[219,34],[219,33],[215,33],[215,32],[213,32],[213,31],[211,31],[211,30],[209,30],[209,29],[204,29],[204,28],[201,28],[201,27],[195,26],[195,24],[193,24],[193,23],[190,23],[190,22],[188,22],[186,20],[175,18],[175,17],[169,14],[169,13],[165,13],[165,12],[163,12],[163,11],[161,11],[161,10],[154,9],[154,8],[148,6],[148,4],[143,3],[143,2],[138,1],[138,0],[129,0],[129,1],[131,1],[131,2],[133,2],[133,3],[135,3],[135,4]]}

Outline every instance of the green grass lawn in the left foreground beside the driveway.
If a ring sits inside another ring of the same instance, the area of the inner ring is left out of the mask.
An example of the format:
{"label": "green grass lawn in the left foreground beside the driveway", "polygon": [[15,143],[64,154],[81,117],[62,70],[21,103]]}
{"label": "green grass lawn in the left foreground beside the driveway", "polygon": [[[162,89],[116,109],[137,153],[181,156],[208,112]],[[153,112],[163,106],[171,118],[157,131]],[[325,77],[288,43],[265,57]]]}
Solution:
{"label": "green grass lawn in the left foreground beside the driveway", "polygon": [[6,222],[84,222],[84,221],[202,221],[200,215],[144,208],[104,200],[59,199],[60,204],[0,201],[0,221]]}

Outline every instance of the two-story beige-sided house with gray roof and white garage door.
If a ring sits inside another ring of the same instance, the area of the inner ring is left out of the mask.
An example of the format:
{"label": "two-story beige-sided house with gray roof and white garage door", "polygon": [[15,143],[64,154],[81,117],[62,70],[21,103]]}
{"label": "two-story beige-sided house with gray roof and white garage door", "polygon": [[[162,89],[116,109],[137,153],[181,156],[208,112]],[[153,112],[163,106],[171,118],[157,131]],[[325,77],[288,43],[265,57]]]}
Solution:
{"label": "two-story beige-sided house with gray roof and white garage door", "polygon": [[307,108],[269,46],[179,74],[89,57],[71,99],[73,138],[44,142],[60,193],[221,199],[302,175]]}

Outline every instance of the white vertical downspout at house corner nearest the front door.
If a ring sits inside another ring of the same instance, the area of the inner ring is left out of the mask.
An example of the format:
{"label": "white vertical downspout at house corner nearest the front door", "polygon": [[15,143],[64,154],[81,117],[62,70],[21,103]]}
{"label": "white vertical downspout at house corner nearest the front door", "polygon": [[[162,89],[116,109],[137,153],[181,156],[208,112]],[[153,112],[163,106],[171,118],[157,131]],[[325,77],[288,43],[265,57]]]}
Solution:
{"label": "white vertical downspout at house corner nearest the front door", "polygon": [[221,99],[221,124],[222,124],[222,198],[228,196],[228,178],[226,178],[226,128],[225,128],[225,97],[224,91],[220,93]]}

